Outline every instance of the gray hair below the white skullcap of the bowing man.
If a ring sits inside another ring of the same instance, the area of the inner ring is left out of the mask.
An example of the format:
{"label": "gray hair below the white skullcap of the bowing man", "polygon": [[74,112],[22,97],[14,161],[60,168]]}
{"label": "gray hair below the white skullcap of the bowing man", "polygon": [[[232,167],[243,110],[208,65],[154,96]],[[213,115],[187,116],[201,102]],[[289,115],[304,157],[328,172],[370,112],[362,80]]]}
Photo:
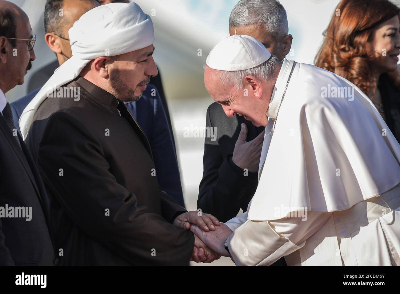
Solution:
{"label": "gray hair below the white skullcap of the bowing man", "polygon": [[234,85],[236,86],[236,90],[239,91],[243,88],[244,77],[246,76],[255,76],[256,78],[268,82],[276,75],[279,69],[279,64],[279,59],[276,56],[271,55],[267,61],[247,70],[221,71],[221,84],[224,86]]}

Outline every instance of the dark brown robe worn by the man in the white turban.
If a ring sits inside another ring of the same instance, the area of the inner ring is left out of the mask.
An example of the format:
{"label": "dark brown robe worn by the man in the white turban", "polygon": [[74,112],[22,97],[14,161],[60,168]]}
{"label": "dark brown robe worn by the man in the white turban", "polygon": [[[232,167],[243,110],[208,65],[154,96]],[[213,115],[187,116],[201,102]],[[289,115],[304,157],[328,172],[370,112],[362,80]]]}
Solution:
{"label": "dark brown robe worn by the man in the white turban", "polygon": [[136,120],[84,78],[68,86],[80,88],[80,100],[47,98],[26,139],[50,198],[60,265],[188,265],[194,236],[172,224],[186,210],[159,189]]}

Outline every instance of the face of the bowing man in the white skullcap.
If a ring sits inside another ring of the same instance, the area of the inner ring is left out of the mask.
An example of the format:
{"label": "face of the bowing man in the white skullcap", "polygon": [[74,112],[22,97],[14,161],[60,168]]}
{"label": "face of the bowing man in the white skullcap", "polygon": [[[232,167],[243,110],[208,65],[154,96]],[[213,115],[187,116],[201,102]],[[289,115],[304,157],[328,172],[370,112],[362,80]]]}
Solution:
{"label": "face of the bowing man in the white skullcap", "polygon": [[[220,71],[206,66],[204,70],[204,85],[212,99],[221,104],[226,116],[232,118],[235,114],[251,120],[254,126],[266,126],[268,118],[266,111],[269,106],[268,89],[262,85],[254,88],[254,84],[245,82],[242,89],[237,90],[235,85],[224,86],[220,83]],[[258,81],[261,82],[261,81]],[[264,85],[266,86],[266,85]],[[272,92],[272,91],[271,91]],[[246,96],[247,95],[247,96]]]}

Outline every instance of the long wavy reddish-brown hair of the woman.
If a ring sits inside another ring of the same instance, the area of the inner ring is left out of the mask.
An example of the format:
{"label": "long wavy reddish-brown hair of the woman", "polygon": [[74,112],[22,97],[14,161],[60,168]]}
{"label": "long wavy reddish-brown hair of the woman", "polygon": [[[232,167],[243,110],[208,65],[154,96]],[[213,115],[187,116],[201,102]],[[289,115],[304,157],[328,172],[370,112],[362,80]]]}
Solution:
{"label": "long wavy reddish-brown hair of the woman", "polygon": [[[378,81],[372,78],[374,57],[367,44],[377,26],[395,16],[400,18],[400,9],[388,0],[342,0],[336,12],[324,32],[315,65],[348,79],[369,95]],[[398,71],[389,76],[398,76]]]}

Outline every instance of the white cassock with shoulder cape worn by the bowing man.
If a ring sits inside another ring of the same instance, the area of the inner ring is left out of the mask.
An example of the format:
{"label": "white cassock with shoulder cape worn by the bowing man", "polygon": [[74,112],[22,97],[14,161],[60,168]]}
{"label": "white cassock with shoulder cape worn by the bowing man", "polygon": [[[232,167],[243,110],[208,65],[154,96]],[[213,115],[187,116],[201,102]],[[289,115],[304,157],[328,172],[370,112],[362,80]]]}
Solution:
{"label": "white cassock with shoulder cape worn by the bowing man", "polygon": [[[282,100],[293,64],[283,61],[272,94],[248,212],[226,222],[232,258],[240,266],[282,256],[289,266],[399,266],[398,142],[354,84],[315,66],[295,64]],[[342,98],[329,98],[335,89]]]}

